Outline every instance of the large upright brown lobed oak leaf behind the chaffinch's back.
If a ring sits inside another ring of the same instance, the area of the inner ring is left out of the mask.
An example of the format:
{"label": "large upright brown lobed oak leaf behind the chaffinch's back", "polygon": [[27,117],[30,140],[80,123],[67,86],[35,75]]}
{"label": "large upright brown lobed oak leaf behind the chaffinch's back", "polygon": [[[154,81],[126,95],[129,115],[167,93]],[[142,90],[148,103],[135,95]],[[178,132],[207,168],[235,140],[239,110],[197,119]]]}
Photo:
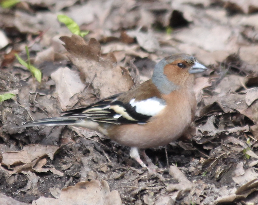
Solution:
{"label": "large upright brown lobed oak leaf behind the chaffinch's back", "polygon": [[112,53],[106,59],[100,57],[101,45],[96,39],[90,39],[88,44],[78,35],[60,39],[70,54],[69,59],[79,69],[81,79],[92,83],[100,98],[127,91],[134,85],[128,70],[117,65]]}

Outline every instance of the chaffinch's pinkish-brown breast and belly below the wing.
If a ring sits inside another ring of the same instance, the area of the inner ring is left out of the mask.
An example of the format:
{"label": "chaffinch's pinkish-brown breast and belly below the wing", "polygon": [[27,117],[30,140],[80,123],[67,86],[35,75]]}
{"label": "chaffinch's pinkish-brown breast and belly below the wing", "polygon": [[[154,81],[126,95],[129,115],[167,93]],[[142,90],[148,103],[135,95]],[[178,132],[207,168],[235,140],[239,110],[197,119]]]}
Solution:
{"label": "chaffinch's pinkish-brown breast and belly below the wing", "polygon": [[119,144],[151,148],[177,140],[189,127],[196,110],[196,98],[189,89],[179,89],[169,95],[162,95],[166,107],[152,117],[145,125],[116,125],[107,129],[107,136]]}

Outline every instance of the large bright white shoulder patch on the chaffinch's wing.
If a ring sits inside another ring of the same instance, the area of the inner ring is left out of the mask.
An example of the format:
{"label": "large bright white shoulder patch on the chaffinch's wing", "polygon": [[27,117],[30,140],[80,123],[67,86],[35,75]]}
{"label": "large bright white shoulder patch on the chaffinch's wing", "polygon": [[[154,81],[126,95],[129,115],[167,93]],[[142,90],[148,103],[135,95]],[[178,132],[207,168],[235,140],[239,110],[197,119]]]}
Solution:
{"label": "large bright white shoulder patch on the chaffinch's wing", "polygon": [[131,99],[130,104],[132,107],[135,106],[135,111],[137,113],[148,116],[157,115],[166,107],[165,101],[157,97],[141,101],[135,101],[135,99]]}

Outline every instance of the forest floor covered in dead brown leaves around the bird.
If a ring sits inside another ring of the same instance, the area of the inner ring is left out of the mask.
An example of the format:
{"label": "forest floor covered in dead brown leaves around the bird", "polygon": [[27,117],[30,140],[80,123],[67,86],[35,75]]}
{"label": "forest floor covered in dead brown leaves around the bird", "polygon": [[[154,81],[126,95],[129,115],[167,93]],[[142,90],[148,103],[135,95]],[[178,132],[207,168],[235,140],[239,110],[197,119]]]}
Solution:
{"label": "forest floor covered in dead brown leaves around the bird", "polygon": [[[40,83],[15,57],[25,46]],[[154,173],[94,131],[12,129],[126,91],[173,53],[208,71],[187,139],[146,149]],[[257,0],[26,0],[0,7],[0,63],[1,98],[13,94],[0,104],[1,205],[258,204]]]}

